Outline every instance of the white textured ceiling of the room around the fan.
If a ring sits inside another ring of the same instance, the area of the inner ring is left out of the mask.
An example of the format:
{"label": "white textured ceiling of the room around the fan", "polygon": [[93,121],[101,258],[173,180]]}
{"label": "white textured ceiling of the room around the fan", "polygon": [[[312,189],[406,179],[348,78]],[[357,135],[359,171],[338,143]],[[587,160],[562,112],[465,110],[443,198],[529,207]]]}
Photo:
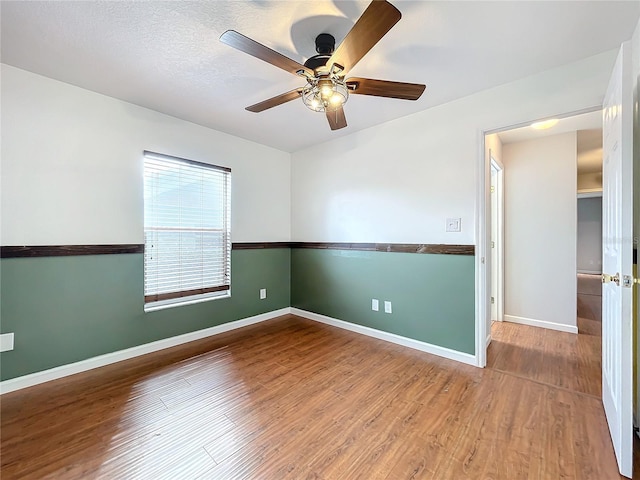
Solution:
{"label": "white textured ceiling of the room around the fan", "polygon": [[640,15],[636,1],[392,0],[402,19],[349,76],[425,83],[420,100],[354,95],[335,132],[302,101],[244,110],[304,82],[223,45],[225,30],[303,62],[317,34],[339,43],[368,3],[2,1],[2,62],[296,151],[616,48]]}

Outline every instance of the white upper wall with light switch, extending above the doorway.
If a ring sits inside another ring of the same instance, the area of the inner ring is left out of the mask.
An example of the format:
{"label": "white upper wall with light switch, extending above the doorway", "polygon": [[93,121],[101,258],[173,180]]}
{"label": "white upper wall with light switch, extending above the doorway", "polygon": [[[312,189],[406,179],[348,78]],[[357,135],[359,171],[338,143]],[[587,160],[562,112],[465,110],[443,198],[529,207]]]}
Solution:
{"label": "white upper wall with light switch, extending above the doorway", "polygon": [[[476,244],[483,132],[600,105],[615,55],[294,153],[293,240]],[[445,232],[447,217],[462,218],[461,233]]]}

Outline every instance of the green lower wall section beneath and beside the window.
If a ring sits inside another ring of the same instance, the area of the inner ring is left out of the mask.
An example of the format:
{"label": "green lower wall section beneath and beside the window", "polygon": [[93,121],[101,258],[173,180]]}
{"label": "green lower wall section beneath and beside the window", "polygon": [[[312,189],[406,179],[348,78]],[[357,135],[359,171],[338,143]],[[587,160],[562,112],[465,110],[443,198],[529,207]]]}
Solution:
{"label": "green lower wall section beneath and beside the window", "polygon": [[0,332],[15,348],[0,354],[0,378],[291,305],[288,248],[234,250],[231,269],[231,298],[144,313],[142,254],[2,259]]}

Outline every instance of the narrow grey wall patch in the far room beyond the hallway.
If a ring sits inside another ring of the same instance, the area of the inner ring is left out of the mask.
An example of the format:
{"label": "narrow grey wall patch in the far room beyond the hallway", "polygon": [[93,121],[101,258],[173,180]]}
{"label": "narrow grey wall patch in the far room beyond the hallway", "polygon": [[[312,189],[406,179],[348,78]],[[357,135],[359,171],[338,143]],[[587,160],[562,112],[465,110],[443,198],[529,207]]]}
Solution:
{"label": "narrow grey wall patch in the far room beyond the hallway", "polygon": [[602,197],[578,199],[578,273],[602,273]]}

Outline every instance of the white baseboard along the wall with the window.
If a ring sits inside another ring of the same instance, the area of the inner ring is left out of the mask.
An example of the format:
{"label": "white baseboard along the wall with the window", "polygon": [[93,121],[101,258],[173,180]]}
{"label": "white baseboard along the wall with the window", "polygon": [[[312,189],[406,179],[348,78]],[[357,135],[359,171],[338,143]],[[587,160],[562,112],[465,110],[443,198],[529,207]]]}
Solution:
{"label": "white baseboard along the wall with the window", "polygon": [[58,378],[67,377],[69,375],[74,375],[76,373],[85,372],[93,368],[103,367],[111,363],[121,362],[122,360],[128,360],[140,355],[146,355],[147,353],[157,352],[158,350],[163,350],[165,348],[175,347],[183,343],[193,342],[194,340],[200,340],[213,335],[219,335],[230,330],[264,322],[265,320],[270,320],[288,313],[291,313],[290,307],[281,308],[280,310],[274,310],[272,312],[255,315],[253,317],[223,323],[222,325],[216,325],[215,327],[205,328],[203,330],[197,330],[195,332],[189,332],[175,337],[164,338],[155,342],[145,343],[144,345],[138,345],[136,347],[119,350],[117,352],[106,353],[104,355],[88,358],[68,365],[61,365],[41,372],[12,378],[10,380],[0,382],[0,395],[20,390],[22,388],[31,387],[33,385],[38,385],[40,383],[49,382],[51,380],[56,380]]}

